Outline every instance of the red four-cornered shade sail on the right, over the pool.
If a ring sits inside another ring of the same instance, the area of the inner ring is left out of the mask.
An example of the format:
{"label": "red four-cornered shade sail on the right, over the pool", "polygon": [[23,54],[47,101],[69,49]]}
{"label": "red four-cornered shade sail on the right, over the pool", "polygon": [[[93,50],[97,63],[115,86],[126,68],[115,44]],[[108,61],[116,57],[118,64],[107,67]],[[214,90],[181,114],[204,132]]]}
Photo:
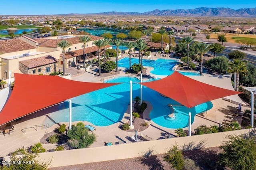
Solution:
{"label": "red four-cornered shade sail on the right, over the pool", "polygon": [[164,79],[140,84],[170,97],[188,108],[221,97],[241,93],[196,81],[177,71],[174,71],[172,75]]}

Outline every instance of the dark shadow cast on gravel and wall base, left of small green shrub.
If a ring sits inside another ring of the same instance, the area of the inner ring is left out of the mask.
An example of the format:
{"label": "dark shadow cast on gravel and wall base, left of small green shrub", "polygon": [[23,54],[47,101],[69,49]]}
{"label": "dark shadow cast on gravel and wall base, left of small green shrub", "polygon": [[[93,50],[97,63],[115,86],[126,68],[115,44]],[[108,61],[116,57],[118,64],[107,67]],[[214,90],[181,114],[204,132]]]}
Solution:
{"label": "dark shadow cast on gravel and wall base, left of small green shrub", "polygon": [[140,157],[140,163],[148,166],[150,170],[164,170],[163,164],[160,159],[153,154],[154,150],[149,148],[148,151],[144,152],[143,156]]}

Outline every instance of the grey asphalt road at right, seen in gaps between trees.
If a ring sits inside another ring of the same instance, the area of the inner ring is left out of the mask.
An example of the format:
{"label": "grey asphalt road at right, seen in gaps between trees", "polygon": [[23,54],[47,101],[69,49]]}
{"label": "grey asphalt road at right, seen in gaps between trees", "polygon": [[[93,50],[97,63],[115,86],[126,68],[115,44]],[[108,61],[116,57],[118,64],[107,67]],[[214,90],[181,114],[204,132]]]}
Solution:
{"label": "grey asphalt road at right, seen in gaps between trees", "polygon": [[[175,42],[176,43],[178,43],[179,42],[179,40],[181,40],[182,38],[180,38],[180,37],[175,37]],[[226,47],[223,51],[222,51],[222,53],[220,53],[220,54],[217,54],[216,53],[216,55],[225,55],[226,57],[228,57],[228,54],[231,52],[231,51],[234,51],[234,49],[231,49],[230,47]],[[210,55],[214,55],[214,53],[212,53],[212,52],[208,52],[208,54],[210,54]],[[229,57],[228,57],[229,58]],[[245,56],[245,58],[244,58],[245,60],[247,60],[247,61],[249,61],[250,63],[252,63],[253,65],[256,65],[256,55],[252,55],[252,54],[247,54],[246,53],[246,56]]]}

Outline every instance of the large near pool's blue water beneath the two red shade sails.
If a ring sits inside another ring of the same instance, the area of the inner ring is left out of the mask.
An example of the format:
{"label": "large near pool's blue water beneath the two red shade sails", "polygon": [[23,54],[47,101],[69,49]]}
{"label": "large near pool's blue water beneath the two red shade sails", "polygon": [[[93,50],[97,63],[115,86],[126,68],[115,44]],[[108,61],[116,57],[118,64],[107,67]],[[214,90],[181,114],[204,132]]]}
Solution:
{"label": "large near pool's blue water beneath the two red shade sails", "polygon": [[[130,101],[130,83],[134,83],[133,96],[140,94],[140,81],[136,77],[116,77],[107,79],[106,83],[112,82],[126,82],[105,89],[100,89],[91,93],[80,95],[72,98],[72,121],[88,121],[96,126],[108,126],[119,122],[124,112],[126,111]],[[153,79],[149,80],[153,81]],[[193,108],[186,108],[184,106],[174,107],[175,120],[168,120],[166,116],[170,114],[168,104],[179,105],[178,102],[162,97],[158,92],[147,87],[142,88],[143,100],[149,101],[153,105],[153,110],[150,113],[152,121],[160,126],[167,128],[183,128],[188,127],[188,113],[192,113],[192,122],[194,115],[212,108],[212,103],[207,102]],[[68,122],[68,102],[56,105],[51,108],[53,113],[49,114],[50,118],[46,118],[44,123],[53,125],[60,122]]]}

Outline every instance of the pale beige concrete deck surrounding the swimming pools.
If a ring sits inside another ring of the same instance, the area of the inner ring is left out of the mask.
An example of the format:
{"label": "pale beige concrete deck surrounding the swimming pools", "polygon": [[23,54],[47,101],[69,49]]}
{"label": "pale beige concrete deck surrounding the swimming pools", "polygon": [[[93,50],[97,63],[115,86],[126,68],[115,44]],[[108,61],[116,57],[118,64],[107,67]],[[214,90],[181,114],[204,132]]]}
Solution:
{"label": "pale beige concrete deck surrounding the swimming pools", "polygon": [[[122,68],[120,69],[122,70]],[[148,73],[150,73],[150,68],[148,68],[147,71],[149,71]],[[101,82],[102,78],[95,77],[94,76],[95,73],[96,72],[94,72],[92,69],[89,72],[84,72],[78,76],[72,77],[72,80],[86,81],[86,82]],[[120,75],[127,76],[127,74],[125,74],[123,71],[120,71]],[[153,77],[154,75],[150,74],[150,76]],[[137,77],[137,76],[134,75],[134,77]],[[104,80],[109,78],[112,78],[112,77],[111,76],[106,77],[104,78]],[[163,77],[160,76],[160,78],[163,78]],[[142,133],[150,136],[151,138],[153,138],[153,140],[162,139],[166,134],[176,135],[176,133],[174,132],[175,129],[161,127],[150,120],[149,113],[152,110],[152,105],[148,103],[148,101],[146,101],[146,103],[148,104],[148,107],[144,111],[143,117],[145,121],[149,122],[150,126],[145,130],[143,130]],[[212,103],[213,103],[213,108],[207,111],[206,114],[201,113],[195,116],[194,123],[192,124],[192,131],[194,131],[194,128],[197,128],[200,125],[210,126],[210,125],[219,125],[219,123],[222,124],[224,120],[227,119],[226,118],[227,115],[234,112],[236,110],[236,107],[238,107],[238,105],[234,103],[230,103],[223,99],[216,99],[212,101]],[[128,136],[135,134],[135,129],[134,129],[134,132],[126,132],[119,128],[119,125],[121,125],[122,123],[128,122],[128,119],[130,117],[129,108],[130,107],[128,105],[127,110],[124,113],[124,117],[120,122],[110,126],[98,127],[98,126],[92,125],[89,122],[84,122],[84,124],[90,124],[93,127],[96,127],[96,130],[94,130],[93,133],[97,135],[97,138],[96,138],[97,141],[94,142],[90,147],[104,146],[105,142],[112,142],[113,144],[115,142],[131,143],[132,141],[130,141]],[[242,109],[244,110],[247,108],[242,107]],[[49,127],[49,128],[38,127],[37,130],[35,128],[27,128],[25,130],[25,133],[22,132],[24,131],[23,129],[26,127],[31,127],[32,125],[42,125],[46,117],[49,118],[48,115],[49,113],[47,113],[44,110],[38,113],[34,113],[32,115],[28,115],[26,117],[23,117],[20,121],[16,122],[16,125],[14,127],[14,132],[11,132],[10,135],[6,134],[4,136],[1,133],[0,134],[0,142],[1,142],[0,156],[6,156],[8,153],[13,152],[17,148],[21,148],[23,146],[27,148],[34,145],[35,143],[40,141],[40,139],[44,136],[45,133],[52,132],[55,128],[59,127],[59,125],[62,124],[62,123],[54,124],[52,127]],[[241,123],[241,120],[238,119],[238,122]],[[76,123],[77,122],[73,122],[72,124],[76,124]],[[66,125],[68,126],[68,123],[66,123]],[[188,128],[184,128],[184,130],[188,130]],[[141,133],[140,130],[138,133],[139,134]],[[49,150],[52,148],[56,148],[56,144],[43,144],[43,147],[46,148],[46,150]]]}

